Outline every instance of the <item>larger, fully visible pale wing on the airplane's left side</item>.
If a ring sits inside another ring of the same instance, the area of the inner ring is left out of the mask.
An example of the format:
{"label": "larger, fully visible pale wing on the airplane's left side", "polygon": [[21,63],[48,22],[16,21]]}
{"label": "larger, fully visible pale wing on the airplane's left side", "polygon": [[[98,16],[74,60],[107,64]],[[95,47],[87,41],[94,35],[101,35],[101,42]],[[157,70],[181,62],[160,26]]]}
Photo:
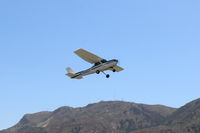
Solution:
{"label": "larger, fully visible pale wing on the airplane's left side", "polygon": [[100,62],[103,59],[97,55],[94,55],[94,54],[84,50],[84,49],[78,49],[78,50],[74,51],[74,53],[91,64]]}

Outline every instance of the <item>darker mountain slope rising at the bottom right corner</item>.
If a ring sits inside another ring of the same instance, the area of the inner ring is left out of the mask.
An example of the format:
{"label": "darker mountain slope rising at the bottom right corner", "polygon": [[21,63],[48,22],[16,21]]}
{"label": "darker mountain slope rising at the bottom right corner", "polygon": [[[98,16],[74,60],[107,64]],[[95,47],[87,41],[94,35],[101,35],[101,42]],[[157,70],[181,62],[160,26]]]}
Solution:
{"label": "darker mountain slope rising at the bottom right corner", "polygon": [[200,98],[174,111],[159,126],[131,133],[200,133]]}

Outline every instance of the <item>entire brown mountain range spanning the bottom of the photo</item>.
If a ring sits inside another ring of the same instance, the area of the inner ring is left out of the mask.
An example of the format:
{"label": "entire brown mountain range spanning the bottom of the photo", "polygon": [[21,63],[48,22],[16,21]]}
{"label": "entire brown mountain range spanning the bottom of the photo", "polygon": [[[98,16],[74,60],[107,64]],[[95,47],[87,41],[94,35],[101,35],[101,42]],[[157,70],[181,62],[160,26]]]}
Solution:
{"label": "entire brown mountain range spanning the bottom of the photo", "polygon": [[179,109],[122,101],[27,114],[0,133],[200,133],[200,99]]}

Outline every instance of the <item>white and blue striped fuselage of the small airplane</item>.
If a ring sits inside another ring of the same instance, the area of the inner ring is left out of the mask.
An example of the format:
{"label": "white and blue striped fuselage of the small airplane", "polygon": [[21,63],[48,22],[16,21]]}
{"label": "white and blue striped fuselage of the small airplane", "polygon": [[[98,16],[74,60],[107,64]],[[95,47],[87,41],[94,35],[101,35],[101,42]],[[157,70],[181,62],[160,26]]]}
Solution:
{"label": "white and blue striped fuselage of the small airplane", "polygon": [[109,60],[109,61],[102,61],[102,62],[98,62],[97,64],[95,64],[94,66],[92,66],[89,69],[80,71],[75,73],[75,75],[71,78],[79,78],[79,77],[83,77],[85,75],[89,75],[89,74],[93,74],[93,73],[97,73],[97,72],[104,72],[106,70],[112,70],[114,66],[116,66],[118,63],[118,60],[113,59],[113,60]]}

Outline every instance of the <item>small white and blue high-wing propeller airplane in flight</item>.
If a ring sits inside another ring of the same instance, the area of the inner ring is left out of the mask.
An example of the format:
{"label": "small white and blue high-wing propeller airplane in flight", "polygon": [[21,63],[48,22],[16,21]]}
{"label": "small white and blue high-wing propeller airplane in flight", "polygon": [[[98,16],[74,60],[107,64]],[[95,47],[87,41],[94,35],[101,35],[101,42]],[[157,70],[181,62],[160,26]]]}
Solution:
{"label": "small white and blue high-wing propeller airplane in flight", "polygon": [[75,54],[77,54],[78,56],[80,56],[83,60],[94,64],[91,68],[87,69],[87,70],[83,70],[80,72],[74,72],[70,67],[66,68],[67,70],[67,76],[69,76],[70,78],[75,78],[75,79],[82,79],[83,76],[89,75],[89,74],[93,74],[93,73],[97,73],[99,74],[100,72],[102,72],[103,74],[106,75],[106,78],[109,78],[110,75],[106,74],[104,71],[106,70],[111,70],[113,72],[119,72],[124,70],[123,68],[121,68],[120,66],[117,65],[118,60],[116,59],[112,59],[112,60],[105,60],[95,54],[92,54],[84,49],[78,49],[76,51],[74,51]]}

